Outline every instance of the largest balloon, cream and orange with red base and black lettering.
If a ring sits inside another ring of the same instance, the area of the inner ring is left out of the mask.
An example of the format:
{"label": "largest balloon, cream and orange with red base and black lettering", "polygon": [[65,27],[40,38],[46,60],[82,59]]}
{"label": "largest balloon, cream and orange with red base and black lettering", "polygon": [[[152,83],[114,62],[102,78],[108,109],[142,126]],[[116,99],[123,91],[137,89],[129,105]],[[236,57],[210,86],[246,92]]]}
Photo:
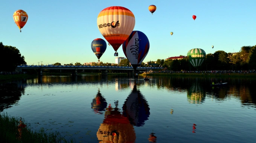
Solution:
{"label": "largest balloon, cream and orange with red base and black lettering", "polygon": [[97,18],[98,29],[102,36],[116,51],[129,37],[135,26],[133,13],[122,6],[110,6],[103,9]]}

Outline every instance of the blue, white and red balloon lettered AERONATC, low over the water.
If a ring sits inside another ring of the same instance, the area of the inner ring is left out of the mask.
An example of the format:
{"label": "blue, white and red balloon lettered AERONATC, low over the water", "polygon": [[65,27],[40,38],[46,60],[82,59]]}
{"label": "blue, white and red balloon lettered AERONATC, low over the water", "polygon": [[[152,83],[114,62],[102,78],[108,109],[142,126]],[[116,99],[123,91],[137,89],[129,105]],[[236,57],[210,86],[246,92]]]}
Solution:
{"label": "blue, white and red balloon lettered AERONATC, low over the water", "polygon": [[123,42],[123,52],[134,70],[142,63],[148,51],[148,37],[140,31],[133,31],[125,42]]}

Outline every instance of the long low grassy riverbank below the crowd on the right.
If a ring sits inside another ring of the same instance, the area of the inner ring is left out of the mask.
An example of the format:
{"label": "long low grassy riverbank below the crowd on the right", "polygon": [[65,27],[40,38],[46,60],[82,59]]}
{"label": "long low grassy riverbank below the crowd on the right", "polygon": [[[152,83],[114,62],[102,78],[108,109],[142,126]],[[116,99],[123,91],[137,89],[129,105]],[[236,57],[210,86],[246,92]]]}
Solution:
{"label": "long low grassy riverbank below the crowd on the right", "polygon": [[256,78],[256,73],[142,73],[145,76],[193,76],[193,77],[244,77],[244,78]]}

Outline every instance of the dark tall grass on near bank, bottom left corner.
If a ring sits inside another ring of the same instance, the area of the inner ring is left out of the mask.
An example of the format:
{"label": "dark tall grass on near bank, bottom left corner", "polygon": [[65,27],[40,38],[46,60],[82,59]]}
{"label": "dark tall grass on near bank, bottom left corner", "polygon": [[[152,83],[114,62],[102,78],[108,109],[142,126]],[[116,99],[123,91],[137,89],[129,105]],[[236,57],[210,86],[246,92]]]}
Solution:
{"label": "dark tall grass on near bank, bottom left corner", "polygon": [[[18,130],[20,119],[0,114],[0,143],[73,143],[67,141],[59,132],[46,133],[44,130],[32,131],[28,124],[21,120],[26,127]],[[21,136],[20,136],[21,135]]]}

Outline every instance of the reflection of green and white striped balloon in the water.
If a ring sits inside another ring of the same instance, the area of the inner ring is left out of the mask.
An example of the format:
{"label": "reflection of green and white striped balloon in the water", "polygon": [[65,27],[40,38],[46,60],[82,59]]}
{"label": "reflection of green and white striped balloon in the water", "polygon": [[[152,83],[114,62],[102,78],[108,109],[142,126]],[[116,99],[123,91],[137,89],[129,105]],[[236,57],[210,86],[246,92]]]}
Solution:
{"label": "reflection of green and white striped balloon in the water", "polygon": [[206,91],[195,82],[192,84],[189,90],[187,90],[187,100],[189,103],[201,104],[204,102],[206,97]]}

